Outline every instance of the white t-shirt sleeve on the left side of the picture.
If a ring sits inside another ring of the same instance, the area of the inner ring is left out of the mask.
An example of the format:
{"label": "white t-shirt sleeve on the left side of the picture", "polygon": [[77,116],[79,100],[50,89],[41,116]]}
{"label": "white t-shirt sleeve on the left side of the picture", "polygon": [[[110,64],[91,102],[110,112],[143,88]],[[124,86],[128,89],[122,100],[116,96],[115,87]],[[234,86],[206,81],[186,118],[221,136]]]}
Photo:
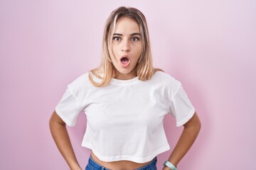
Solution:
{"label": "white t-shirt sleeve on the left side of the picture", "polygon": [[82,108],[72,91],[69,88],[66,89],[63,97],[55,107],[55,112],[68,126],[74,126],[81,111]]}

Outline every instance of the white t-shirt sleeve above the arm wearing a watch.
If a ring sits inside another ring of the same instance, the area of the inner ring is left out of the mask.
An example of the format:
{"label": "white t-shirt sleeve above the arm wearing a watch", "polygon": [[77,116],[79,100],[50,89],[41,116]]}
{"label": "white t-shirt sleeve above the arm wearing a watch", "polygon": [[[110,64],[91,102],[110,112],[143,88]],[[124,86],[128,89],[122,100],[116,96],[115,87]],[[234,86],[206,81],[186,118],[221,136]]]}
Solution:
{"label": "white t-shirt sleeve above the arm wearing a watch", "polygon": [[176,126],[187,123],[195,113],[195,108],[182,86],[179,87],[176,95],[172,99],[170,110],[171,114],[176,118]]}

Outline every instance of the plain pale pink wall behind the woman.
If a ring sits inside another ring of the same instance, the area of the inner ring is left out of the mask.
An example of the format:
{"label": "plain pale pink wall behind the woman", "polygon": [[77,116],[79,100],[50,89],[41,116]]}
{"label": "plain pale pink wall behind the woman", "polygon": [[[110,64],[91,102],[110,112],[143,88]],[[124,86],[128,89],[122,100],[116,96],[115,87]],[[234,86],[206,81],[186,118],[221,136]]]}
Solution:
{"label": "plain pale pink wall behind the woman", "polygon": [[[66,86],[99,65],[104,23],[118,6],[145,14],[155,67],[182,82],[201,118],[179,169],[256,169],[254,0],[0,0],[0,169],[68,169],[48,120]],[[80,114],[68,128],[83,169],[85,122]],[[174,147],[182,128],[171,115],[165,127]]]}

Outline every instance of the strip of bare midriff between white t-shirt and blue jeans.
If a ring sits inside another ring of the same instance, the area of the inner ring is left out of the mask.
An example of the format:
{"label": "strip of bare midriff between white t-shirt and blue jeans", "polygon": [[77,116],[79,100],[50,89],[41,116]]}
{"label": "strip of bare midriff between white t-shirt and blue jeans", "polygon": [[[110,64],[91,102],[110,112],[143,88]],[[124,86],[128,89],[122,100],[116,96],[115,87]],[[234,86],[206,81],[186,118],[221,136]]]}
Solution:
{"label": "strip of bare midriff between white t-shirt and blue jeans", "polygon": [[139,169],[140,167],[145,166],[146,164],[149,164],[149,162],[137,163],[137,162],[131,162],[131,161],[102,162],[100,159],[98,159],[95,156],[95,154],[93,154],[93,152],[91,152],[91,157],[95,162],[97,162],[97,164],[100,164],[101,166],[104,166],[107,169],[114,169],[114,170]]}

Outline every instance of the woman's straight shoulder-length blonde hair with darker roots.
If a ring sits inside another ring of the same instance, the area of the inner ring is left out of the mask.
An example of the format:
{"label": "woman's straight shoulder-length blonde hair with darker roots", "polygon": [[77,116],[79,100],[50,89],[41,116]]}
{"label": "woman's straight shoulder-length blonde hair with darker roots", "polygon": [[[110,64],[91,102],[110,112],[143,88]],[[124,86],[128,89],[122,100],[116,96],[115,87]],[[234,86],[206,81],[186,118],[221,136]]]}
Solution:
{"label": "woman's straight shoulder-length blonde hair with darker roots", "polygon": [[[92,69],[89,74],[89,79],[94,86],[107,86],[112,77],[114,77],[116,74],[116,69],[111,62],[110,55],[112,55],[112,36],[114,34],[114,29],[117,21],[121,17],[132,18],[139,24],[139,30],[142,35],[142,54],[139,58],[137,66],[134,68],[134,72],[137,74],[139,80],[146,81],[151,79],[154,72],[160,70],[154,69],[152,64],[149,30],[147,28],[145,16],[137,8],[126,8],[121,6],[112,11],[110,17],[107,18],[105,23],[105,30],[102,40],[102,64],[99,68]],[[92,74],[102,81],[100,83],[95,82],[92,78]]]}

